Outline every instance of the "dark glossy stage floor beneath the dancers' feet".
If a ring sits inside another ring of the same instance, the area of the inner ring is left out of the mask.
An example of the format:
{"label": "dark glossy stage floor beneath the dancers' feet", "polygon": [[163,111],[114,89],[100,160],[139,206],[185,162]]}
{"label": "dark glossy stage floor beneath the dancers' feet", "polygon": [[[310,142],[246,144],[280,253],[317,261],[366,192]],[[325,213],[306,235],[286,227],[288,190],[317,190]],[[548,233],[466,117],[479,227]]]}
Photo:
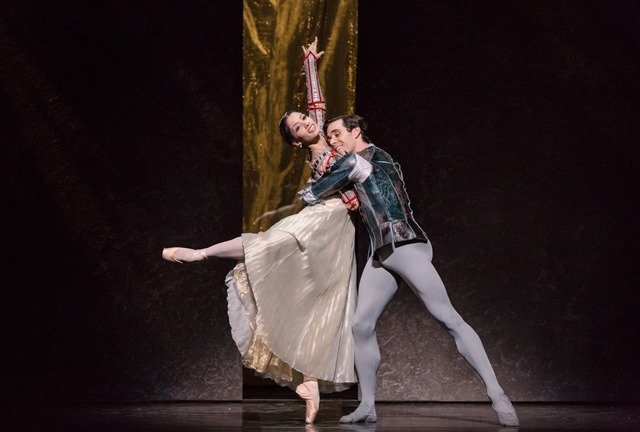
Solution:
{"label": "dark glossy stage floor beneath the dancers' feet", "polygon": [[321,404],[316,423],[304,424],[298,400],[184,403],[3,403],[0,430],[22,431],[640,431],[640,405],[514,404],[519,428],[497,424],[486,403],[379,403],[378,423],[341,425],[353,400]]}

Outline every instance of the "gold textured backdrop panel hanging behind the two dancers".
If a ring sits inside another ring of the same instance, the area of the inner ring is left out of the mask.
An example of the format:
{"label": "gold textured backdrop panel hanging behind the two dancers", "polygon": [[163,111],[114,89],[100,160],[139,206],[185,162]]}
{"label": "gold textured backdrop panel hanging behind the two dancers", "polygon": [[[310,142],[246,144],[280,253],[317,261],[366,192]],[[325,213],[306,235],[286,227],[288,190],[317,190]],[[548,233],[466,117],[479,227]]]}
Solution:
{"label": "gold textured backdrop panel hanging behind the two dancers", "polygon": [[306,154],[278,122],[288,109],[306,112],[301,47],[315,36],[327,118],[354,112],[358,2],[244,0],[243,21],[243,231],[257,232],[301,208]]}

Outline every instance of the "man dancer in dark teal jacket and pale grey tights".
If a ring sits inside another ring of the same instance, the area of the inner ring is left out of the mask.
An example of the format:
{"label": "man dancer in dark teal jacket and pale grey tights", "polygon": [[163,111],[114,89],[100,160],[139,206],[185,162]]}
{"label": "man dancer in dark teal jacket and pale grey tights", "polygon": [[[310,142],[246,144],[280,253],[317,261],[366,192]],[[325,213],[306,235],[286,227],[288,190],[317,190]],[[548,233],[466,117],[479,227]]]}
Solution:
{"label": "man dancer in dark teal jacket and pale grey tights", "polygon": [[375,327],[398,288],[400,276],[416,292],[433,316],[453,336],[458,351],[478,372],[503,426],[518,426],[518,416],[498,384],[478,334],[456,312],[440,276],[431,264],[431,243],[413,218],[400,165],[364,135],[360,116],[340,116],[329,121],[329,144],[347,155],[316,183],[300,191],[300,200],[314,205],[349,184],[360,200],[371,247],[360,280],[353,319],[355,363],[362,399],[358,408],[341,423],[375,422],[376,374],[380,349]]}

